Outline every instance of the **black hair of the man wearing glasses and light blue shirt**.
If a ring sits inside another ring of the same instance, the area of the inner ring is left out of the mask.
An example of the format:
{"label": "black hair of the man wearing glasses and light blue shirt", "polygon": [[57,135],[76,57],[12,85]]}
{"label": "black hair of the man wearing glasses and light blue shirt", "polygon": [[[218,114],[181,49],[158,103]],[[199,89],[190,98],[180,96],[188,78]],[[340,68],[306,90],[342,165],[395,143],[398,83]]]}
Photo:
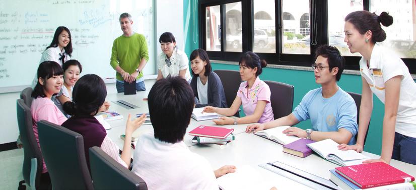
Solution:
{"label": "black hair of the man wearing glasses and light blue shirt", "polygon": [[336,81],[339,81],[345,65],[345,58],[341,56],[339,50],[332,45],[323,44],[316,49],[315,60],[319,55],[328,58],[329,71],[332,71],[333,68],[338,68],[335,79]]}

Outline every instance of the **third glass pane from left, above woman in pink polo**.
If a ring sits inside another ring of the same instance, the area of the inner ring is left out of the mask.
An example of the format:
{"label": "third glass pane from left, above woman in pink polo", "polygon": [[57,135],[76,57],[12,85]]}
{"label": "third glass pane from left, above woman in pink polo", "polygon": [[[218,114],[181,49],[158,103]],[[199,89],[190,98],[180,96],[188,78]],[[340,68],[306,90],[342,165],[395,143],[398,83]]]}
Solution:
{"label": "third glass pane from left, above woman in pink polo", "polygon": [[253,6],[253,51],[264,53],[276,53],[274,0],[254,0]]}

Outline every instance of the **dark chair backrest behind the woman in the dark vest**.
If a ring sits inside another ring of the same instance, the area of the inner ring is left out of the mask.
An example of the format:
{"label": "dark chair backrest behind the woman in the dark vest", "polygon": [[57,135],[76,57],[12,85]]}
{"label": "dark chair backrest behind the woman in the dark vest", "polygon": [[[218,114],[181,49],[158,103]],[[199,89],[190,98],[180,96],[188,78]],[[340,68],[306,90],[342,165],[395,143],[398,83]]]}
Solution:
{"label": "dark chair backrest behind the woman in the dark vest", "polygon": [[46,120],[38,122],[39,143],[53,189],[93,189],[82,135]]}

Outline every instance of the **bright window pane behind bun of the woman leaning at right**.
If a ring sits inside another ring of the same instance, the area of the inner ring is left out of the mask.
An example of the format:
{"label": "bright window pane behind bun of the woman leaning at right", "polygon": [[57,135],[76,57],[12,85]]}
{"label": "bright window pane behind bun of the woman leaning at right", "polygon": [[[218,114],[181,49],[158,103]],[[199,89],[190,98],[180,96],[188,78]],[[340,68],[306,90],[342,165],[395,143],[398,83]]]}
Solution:
{"label": "bright window pane behind bun of the woman leaning at right", "polygon": [[[380,15],[383,11],[393,17],[389,27],[381,25],[387,38],[381,45],[395,51],[401,58],[416,58],[416,21],[415,1],[372,0],[370,12]],[[413,8],[413,9],[412,9]]]}

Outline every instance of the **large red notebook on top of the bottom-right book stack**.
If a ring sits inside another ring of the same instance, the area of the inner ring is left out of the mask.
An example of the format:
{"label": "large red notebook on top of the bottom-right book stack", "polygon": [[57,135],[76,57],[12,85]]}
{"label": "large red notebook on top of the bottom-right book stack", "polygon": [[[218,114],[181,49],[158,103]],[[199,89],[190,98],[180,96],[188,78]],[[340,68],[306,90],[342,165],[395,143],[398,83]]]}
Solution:
{"label": "large red notebook on top of the bottom-right book stack", "polygon": [[413,181],[414,177],[384,162],[335,168],[336,172],[360,188]]}

